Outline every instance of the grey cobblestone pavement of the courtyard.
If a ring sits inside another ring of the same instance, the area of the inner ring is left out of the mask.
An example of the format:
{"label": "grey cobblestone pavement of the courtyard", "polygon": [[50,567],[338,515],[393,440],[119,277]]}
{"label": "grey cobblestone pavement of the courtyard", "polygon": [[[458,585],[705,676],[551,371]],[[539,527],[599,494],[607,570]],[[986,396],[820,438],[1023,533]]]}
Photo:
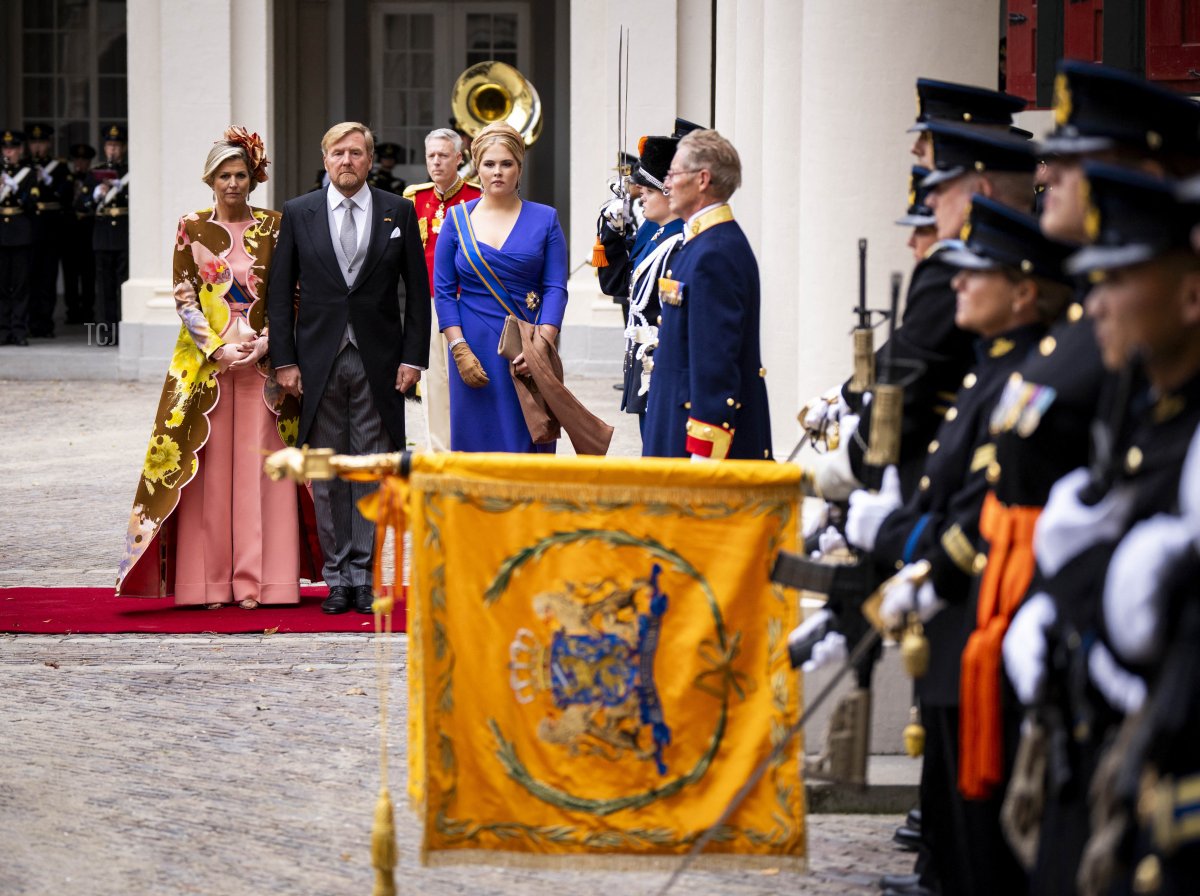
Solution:
{"label": "grey cobblestone pavement of the courtyard", "polygon": [[[611,383],[571,385],[618,425],[613,453],[636,453]],[[0,585],[112,584],[157,396],[0,383]],[[662,886],[658,872],[421,867],[403,800],[403,648],[390,728],[401,892]],[[368,892],[372,651],[358,635],[0,636],[0,894]],[[696,872],[673,892],[877,892],[876,874],[911,867],[887,846],[896,820],[811,816],[809,874]]]}

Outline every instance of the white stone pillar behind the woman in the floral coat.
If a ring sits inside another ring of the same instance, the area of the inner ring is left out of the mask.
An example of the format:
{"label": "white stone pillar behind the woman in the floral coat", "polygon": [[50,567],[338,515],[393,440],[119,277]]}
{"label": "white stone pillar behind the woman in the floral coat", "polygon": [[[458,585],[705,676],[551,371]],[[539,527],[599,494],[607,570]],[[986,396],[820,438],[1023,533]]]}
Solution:
{"label": "white stone pillar behind the woman in the floral coat", "polygon": [[[200,181],[230,124],[271,151],[270,0],[130,0],[127,7],[130,279],[121,291],[120,373],[163,377],[179,332],[170,258],[179,216],[212,204]],[[254,191],[271,205],[270,184]]]}

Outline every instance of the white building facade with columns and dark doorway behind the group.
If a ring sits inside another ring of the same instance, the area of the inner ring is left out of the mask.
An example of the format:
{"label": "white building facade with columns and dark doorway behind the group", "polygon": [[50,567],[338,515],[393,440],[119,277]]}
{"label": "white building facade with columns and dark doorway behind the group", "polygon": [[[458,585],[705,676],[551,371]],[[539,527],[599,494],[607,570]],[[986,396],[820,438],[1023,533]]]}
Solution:
{"label": "white building facade with columns and dark doorway behind the group", "polygon": [[424,180],[414,144],[448,124],[455,76],[500,58],[544,103],[524,184],[568,230],[564,357],[569,369],[616,379],[619,309],[586,260],[618,148],[622,26],[625,149],[670,133],[679,115],[715,125],[742,156],[732,205],[758,258],[774,441],[786,455],[803,401],[850,372],[858,239],[870,242],[872,306],[886,305],[890,271],[912,267],[893,221],[906,204],[913,82],[994,86],[1001,0],[127,0],[122,375],[160,379],[167,366],[179,326],[175,223],[211,203],[199,175],[227,125],[266,142],[272,178],[253,194],[258,205],[280,208],[312,186],[320,134],[343,119],[404,146],[402,173]]}

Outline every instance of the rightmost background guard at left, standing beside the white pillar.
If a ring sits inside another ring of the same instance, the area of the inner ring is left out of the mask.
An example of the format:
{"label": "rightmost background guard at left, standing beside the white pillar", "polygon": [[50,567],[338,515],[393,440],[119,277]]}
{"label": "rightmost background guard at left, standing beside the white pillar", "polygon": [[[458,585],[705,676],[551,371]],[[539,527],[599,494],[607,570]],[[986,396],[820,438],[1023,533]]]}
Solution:
{"label": "rightmost background guard at left, standing beside the white pillar", "polygon": [[130,276],[130,168],[125,157],[124,125],[103,131],[104,164],[91,173],[92,188],[86,205],[95,212],[92,251],[96,264],[96,296],[100,318],[108,326],[104,344],[116,344],[121,319],[121,284]]}

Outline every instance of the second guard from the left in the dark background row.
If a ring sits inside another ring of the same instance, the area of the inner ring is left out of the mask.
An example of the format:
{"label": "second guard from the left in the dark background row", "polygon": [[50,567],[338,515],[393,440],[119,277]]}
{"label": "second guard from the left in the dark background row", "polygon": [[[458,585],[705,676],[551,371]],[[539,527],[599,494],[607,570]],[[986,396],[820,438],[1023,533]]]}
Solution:
{"label": "second guard from the left in the dark background row", "polygon": [[59,258],[66,241],[67,215],[73,197],[66,164],[52,156],[54,127],[25,125],[29,161],[34,167],[34,267],[29,288],[29,335],[54,338],[58,305]]}

